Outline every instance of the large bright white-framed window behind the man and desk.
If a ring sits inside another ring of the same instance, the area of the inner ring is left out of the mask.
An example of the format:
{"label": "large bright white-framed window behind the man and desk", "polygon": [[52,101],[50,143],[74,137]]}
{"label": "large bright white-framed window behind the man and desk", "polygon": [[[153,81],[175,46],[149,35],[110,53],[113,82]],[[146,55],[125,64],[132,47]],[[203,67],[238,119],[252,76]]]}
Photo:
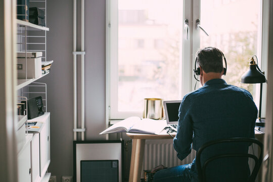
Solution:
{"label": "large bright white-framed window behind the man and desk", "polygon": [[[209,46],[228,62],[223,79],[255,96],[255,87],[240,78],[259,55],[260,1],[109,0],[109,118],[142,117],[145,98],[181,100],[194,89],[195,53]],[[197,19],[209,36],[196,28]]]}

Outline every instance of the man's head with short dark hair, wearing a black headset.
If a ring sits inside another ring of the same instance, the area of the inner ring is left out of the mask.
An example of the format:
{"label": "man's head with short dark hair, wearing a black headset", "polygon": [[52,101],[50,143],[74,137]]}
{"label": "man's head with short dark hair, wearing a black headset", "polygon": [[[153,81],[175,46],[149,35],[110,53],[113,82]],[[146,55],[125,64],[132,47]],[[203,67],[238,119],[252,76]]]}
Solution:
{"label": "man's head with short dark hair, wearing a black headset", "polygon": [[[200,69],[200,82],[221,78],[224,73],[223,53],[217,48],[204,48],[196,53],[196,64]],[[226,65],[225,65],[226,66]]]}

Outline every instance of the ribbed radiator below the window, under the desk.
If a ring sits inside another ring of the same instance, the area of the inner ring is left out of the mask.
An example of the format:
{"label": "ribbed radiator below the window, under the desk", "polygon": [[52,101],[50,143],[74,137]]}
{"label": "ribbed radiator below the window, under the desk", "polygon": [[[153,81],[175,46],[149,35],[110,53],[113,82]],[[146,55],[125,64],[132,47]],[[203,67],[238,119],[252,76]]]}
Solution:
{"label": "ribbed radiator below the window, under the desk", "polygon": [[191,154],[183,161],[179,160],[176,154],[177,152],[173,148],[172,139],[146,140],[142,176],[144,176],[144,170],[151,170],[160,164],[165,167],[173,167],[192,163],[196,152],[192,150]]}

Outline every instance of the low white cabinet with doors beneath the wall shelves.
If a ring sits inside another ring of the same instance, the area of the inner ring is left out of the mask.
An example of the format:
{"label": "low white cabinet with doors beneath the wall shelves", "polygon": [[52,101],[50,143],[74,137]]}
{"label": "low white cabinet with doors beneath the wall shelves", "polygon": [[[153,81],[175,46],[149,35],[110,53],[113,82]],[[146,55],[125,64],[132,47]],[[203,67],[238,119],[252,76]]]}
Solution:
{"label": "low white cabinet with doors beneath the wall shelves", "polygon": [[29,129],[26,142],[18,153],[19,182],[48,181],[50,164],[50,113],[28,120],[37,122],[35,129]]}

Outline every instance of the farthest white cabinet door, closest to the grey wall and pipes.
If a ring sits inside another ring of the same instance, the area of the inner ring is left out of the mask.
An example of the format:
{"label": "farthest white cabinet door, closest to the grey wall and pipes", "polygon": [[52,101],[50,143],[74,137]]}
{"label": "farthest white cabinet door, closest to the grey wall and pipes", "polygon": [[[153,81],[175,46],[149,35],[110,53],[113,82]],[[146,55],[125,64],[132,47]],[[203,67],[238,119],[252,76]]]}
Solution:
{"label": "farthest white cabinet door, closest to the grey wall and pipes", "polygon": [[40,170],[41,177],[45,174],[50,163],[50,135],[49,127],[50,119],[47,119],[47,122],[44,123],[40,131]]}

